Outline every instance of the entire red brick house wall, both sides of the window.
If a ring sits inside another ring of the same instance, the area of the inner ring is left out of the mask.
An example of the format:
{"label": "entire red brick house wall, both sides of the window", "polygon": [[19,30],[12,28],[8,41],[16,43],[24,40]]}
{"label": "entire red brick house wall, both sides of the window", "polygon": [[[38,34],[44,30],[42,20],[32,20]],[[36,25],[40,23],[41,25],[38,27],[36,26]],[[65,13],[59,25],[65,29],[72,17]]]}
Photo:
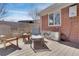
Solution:
{"label": "entire red brick house wall, both sides of the window", "polygon": [[[79,43],[79,4],[77,4],[77,16],[69,17],[69,6],[61,9],[61,33],[74,43]],[[48,26],[48,15],[42,16],[42,30],[58,31],[56,27]]]}

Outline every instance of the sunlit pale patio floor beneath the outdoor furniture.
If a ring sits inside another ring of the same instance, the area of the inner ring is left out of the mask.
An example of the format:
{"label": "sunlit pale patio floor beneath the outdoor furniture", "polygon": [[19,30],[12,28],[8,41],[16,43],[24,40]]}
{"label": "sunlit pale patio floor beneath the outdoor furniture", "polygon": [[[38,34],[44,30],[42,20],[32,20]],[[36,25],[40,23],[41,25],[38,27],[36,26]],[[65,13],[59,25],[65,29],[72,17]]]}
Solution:
{"label": "sunlit pale patio floor beneath the outdoor furniture", "polygon": [[[69,45],[72,43],[65,42]],[[19,40],[19,46],[22,48],[21,50],[16,49],[15,46],[8,47],[6,50],[7,56],[77,56],[79,55],[79,49],[74,48],[73,46],[69,46],[66,44],[61,44],[59,42],[45,39],[45,44],[50,50],[40,50],[36,53],[30,47],[30,44],[24,44],[22,39]],[[0,45],[2,47],[2,45]],[[14,49],[15,48],[15,49]],[[2,49],[3,50],[3,49]],[[3,53],[3,52],[1,52]]]}

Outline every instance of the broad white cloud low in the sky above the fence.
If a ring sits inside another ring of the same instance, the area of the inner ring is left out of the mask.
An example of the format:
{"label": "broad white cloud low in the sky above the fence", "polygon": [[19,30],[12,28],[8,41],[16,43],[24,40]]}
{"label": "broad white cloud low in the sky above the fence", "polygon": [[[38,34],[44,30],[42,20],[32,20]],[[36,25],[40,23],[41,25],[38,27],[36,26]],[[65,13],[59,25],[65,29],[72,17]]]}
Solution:
{"label": "broad white cloud low in the sky above the fence", "polygon": [[33,20],[29,15],[28,11],[10,10],[8,16],[4,17],[6,21],[19,21],[19,20]]}

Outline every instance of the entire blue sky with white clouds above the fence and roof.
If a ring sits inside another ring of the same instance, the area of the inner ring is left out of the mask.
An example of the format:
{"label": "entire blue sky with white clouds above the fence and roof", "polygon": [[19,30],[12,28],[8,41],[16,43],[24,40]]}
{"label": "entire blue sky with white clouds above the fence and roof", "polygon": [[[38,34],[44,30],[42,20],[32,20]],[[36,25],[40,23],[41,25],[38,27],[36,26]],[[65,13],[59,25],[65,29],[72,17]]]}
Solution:
{"label": "entire blue sky with white clouds above the fence and roof", "polygon": [[8,12],[6,17],[2,19],[15,22],[19,20],[33,20],[28,14],[30,10],[37,8],[41,11],[50,5],[50,3],[8,3],[5,6]]}

